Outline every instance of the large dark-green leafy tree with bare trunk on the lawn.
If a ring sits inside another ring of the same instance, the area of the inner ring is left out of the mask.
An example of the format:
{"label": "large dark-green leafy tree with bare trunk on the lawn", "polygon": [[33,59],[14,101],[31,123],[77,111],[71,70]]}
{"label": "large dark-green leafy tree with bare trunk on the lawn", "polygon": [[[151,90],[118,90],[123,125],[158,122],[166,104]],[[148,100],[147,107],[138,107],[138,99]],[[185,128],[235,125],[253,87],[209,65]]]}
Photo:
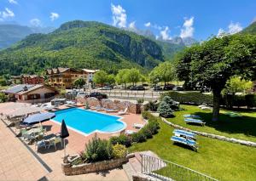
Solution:
{"label": "large dark-green leafy tree with bare trunk on the lawn", "polygon": [[212,89],[212,121],[218,121],[221,91],[230,77],[255,77],[255,43],[251,35],[212,37],[178,55],[178,78],[192,87]]}

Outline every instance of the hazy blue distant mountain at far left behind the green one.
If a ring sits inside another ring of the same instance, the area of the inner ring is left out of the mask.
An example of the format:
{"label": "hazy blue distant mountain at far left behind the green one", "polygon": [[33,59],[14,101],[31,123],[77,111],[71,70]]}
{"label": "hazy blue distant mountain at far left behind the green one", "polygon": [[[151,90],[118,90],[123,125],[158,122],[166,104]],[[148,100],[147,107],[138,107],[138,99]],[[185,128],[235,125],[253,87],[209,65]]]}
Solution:
{"label": "hazy blue distant mountain at far left behind the green one", "polygon": [[32,33],[49,33],[50,31],[53,31],[52,27],[28,27],[12,22],[0,24],[0,49],[8,48]]}

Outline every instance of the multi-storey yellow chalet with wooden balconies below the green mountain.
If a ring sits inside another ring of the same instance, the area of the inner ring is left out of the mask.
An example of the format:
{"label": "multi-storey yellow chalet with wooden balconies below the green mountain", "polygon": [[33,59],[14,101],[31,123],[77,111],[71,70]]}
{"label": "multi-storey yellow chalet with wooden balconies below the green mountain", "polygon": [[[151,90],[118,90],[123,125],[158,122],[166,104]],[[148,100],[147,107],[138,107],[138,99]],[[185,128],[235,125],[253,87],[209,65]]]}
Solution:
{"label": "multi-storey yellow chalet with wooden balconies below the green mountain", "polygon": [[73,82],[76,79],[84,78],[90,82],[94,73],[98,70],[73,69],[73,68],[54,68],[46,71],[50,86],[57,88],[73,88]]}

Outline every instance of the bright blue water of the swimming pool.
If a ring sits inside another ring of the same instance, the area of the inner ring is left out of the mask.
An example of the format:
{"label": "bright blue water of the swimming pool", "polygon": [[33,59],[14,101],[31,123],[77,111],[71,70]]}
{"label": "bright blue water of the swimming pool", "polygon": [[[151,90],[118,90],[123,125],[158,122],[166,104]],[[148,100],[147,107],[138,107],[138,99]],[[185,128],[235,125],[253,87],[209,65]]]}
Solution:
{"label": "bright blue water of the swimming pool", "polygon": [[120,122],[119,116],[111,116],[90,110],[72,108],[55,112],[53,120],[60,122],[64,119],[67,127],[79,132],[90,134],[95,131],[113,133],[125,128],[125,123]]}

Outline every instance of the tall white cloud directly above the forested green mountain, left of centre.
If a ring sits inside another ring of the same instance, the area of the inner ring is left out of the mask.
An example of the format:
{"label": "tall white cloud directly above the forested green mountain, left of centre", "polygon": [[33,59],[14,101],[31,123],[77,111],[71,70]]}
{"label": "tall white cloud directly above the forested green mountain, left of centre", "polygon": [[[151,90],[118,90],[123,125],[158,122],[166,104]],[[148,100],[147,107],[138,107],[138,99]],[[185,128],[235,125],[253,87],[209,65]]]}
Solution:
{"label": "tall white cloud directly above the forested green mountain, left of centre", "polygon": [[113,19],[113,25],[119,26],[119,27],[126,27],[126,20],[127,15],[125,13],[125,9],[122,8],[120,5],[113,5],[111,4],[111,11],[112,11],[112,19]]}

